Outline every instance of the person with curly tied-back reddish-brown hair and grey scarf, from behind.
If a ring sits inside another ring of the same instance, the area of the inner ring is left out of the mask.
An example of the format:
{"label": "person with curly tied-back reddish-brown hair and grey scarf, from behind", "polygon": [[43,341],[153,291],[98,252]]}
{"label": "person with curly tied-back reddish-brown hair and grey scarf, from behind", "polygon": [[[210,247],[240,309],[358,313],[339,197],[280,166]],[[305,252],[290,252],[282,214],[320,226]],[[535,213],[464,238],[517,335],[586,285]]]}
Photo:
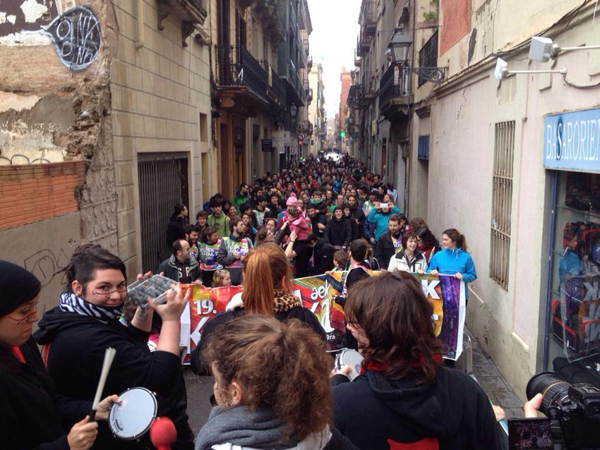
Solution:
{"label": "person with curly tied-back reddish-brown hair and grey scarf, from behind", "polygon": [[330,427],[332,360],[299,320],[238,317],[215,331],[202,355],[217,406],[196,450],[356,450]]}

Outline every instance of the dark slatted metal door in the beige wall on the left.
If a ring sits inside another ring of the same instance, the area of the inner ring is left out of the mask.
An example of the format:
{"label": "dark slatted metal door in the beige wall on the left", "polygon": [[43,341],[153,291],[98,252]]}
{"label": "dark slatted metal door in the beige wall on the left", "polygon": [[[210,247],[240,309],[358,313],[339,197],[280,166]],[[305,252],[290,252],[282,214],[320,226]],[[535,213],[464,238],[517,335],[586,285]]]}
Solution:
{"label": "dark slatted metal door in the beige wall on the left", "polygon": [[167,225],[177,203],[188,202],[188,159],[183,153],[138,154],[143,272],[156,272],[171,254]]}

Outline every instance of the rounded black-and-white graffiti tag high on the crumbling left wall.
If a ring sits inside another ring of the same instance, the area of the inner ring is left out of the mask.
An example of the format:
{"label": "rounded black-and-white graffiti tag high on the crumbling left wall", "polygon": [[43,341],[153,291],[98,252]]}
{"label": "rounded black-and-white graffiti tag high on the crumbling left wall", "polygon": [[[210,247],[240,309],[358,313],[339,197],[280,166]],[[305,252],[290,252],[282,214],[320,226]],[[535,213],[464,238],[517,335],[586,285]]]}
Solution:
{"label": "rounded black-and-white graffiti tag high on the crumbling left wall", "polygon": [[76,6],[44,27],[54,43],[61,63],[71,71],[83,71],[98,56],[102,36],[94,13]]}

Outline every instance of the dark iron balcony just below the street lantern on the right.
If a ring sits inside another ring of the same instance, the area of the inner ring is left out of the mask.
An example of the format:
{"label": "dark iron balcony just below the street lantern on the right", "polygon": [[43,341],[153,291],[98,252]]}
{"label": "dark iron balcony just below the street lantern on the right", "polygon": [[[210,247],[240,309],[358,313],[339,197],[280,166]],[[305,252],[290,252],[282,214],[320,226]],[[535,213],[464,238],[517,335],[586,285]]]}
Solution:
{"label": "dark iron balcony just below the street lantern on the right", "polygon": [[411,102],[411,72],[408,68],[390,66],[379,85],[379,111],[390,120],[408,115]]}

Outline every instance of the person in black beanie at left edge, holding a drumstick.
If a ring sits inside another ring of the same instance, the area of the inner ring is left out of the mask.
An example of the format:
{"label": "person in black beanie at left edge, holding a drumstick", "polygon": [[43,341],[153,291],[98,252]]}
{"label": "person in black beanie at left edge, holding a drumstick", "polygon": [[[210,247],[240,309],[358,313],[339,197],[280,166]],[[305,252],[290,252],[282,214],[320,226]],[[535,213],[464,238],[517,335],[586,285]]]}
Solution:
{"label": "person in black beanie at left edge, holding a drumstick", "polygon": [[[23,267],[0,261],[0,447],[87,450],[98,427],[88,422],[92,401],[56,394],[31,337],[40,288]],[[96,420],[107,420],[114,401],[119,397],[100,402]]]}

